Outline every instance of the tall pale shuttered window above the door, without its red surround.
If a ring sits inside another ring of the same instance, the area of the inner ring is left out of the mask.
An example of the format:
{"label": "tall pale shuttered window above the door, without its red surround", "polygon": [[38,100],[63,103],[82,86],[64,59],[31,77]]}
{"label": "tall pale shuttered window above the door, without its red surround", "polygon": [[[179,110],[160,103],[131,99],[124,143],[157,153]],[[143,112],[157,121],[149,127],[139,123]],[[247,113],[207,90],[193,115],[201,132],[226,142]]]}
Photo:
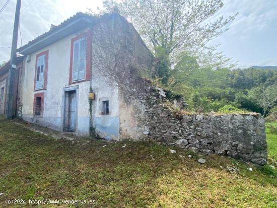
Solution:
{"label": "tall pale shuttered window above the door, without its red surround", "polygon": [[86,77],[87,40],[81,38],[73,45],[72,81],[84,80]]}

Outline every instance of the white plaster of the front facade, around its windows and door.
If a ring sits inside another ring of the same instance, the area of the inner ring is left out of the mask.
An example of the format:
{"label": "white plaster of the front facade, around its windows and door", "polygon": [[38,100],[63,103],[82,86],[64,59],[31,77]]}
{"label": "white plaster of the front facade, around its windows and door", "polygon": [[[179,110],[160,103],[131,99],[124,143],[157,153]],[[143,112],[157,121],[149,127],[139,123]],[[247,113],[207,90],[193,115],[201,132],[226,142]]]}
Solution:
{"label": "white plaster of the front facade, around its windows and door", "polygon": [[[19,93],[22,108],[20,116],[24,120],[62,131],[64,88],[78,85],[79,93],[77,98],[78,109],[75,134],[89,134],[90,116],[88,110],[88,94],[90,81],[68,85],[70,76],[71,39],[78,34],[79,33],[67,36],[36,51],[35,53],[30,54],[30,62],[27,62],[25,59],[25,70],[20,78],[22,81],[20,82],[21,90]],[[36,55],[45,50],[49,50],[46,90],[34,91]],[[34,94],[39,92],[44,92],[43,116],[33,117]]]}

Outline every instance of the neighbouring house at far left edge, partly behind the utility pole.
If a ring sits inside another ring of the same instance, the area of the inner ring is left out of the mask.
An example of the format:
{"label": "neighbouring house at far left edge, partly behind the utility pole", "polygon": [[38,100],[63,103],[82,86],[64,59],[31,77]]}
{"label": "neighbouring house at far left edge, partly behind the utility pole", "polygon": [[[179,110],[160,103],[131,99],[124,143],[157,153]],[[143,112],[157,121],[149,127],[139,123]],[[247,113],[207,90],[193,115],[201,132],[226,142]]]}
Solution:
{"label": "neighbouring house at far left edge, partly behind the utility pole", "polygon": [[[23,59],[24,56],[18,56],[16,60],[16,74],[15,74],[15,80],[14,80],[14,112],[13,114],[17,114],[18,109],[18,85],[19,85],[19,77],[22,73],[22,67],[23,67]],[[7,89],[8,89],[8,76],[9,76],[9,68],[10,68],[10,61],[8,61],[6,64],[4,64],[0,68],[0,115],[6,115],[6,107],[7,107]]]}

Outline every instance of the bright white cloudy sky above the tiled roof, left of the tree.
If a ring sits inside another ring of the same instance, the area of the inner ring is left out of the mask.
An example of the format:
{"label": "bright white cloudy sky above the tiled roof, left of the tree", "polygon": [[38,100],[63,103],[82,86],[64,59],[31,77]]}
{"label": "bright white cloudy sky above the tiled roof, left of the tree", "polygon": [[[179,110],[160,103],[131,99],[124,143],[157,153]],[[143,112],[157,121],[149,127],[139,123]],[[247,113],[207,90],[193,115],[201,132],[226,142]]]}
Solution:
{"label": "bright white cloudy sky above the tiled roof, left of the tree", "polygon": [[[31,4],[28,6],[28,4]],[[67,1],[67,0],[22,0],[20,28],[23,45],[50,29],[50,25],[58,25],[77,12],[86,12],[87,8],[96,10],[101,7],[101,1]],[[2,4],[0,5],[0,7]],[[25,7],[28,6],[26,9]],[[14,23],[16,0],[11,0],[0,14],[0,39],[8,32]],[[2,40],[0,47],[11,46],[13,30]],[[21,46],[20,36],[18,47]],[[10,59],[10,48],[0,48],[0,63]]]}

